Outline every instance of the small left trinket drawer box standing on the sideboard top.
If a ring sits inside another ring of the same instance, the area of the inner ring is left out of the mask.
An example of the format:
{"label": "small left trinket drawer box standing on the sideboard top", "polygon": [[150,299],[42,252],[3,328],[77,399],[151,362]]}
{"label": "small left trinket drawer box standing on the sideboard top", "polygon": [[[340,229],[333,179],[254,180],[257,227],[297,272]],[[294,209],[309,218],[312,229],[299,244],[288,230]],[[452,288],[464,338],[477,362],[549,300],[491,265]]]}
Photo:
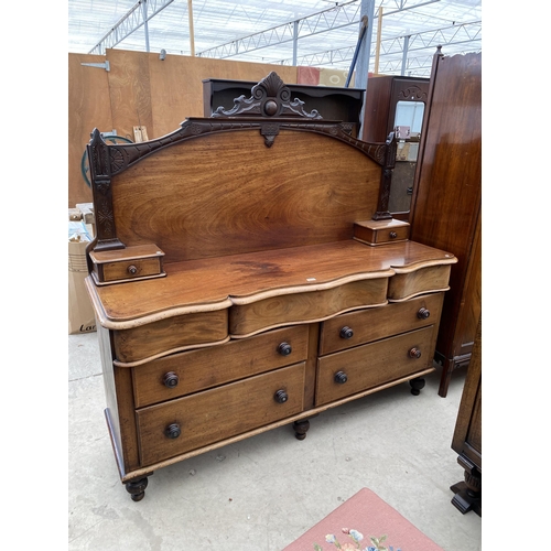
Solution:
{"label": "small left trinket drawer box standing on the sideboard top", "polygon": [[94,264],[91,274],[98,285],[165,276],[164,252],[155,245],[91,251],[89,256]]}

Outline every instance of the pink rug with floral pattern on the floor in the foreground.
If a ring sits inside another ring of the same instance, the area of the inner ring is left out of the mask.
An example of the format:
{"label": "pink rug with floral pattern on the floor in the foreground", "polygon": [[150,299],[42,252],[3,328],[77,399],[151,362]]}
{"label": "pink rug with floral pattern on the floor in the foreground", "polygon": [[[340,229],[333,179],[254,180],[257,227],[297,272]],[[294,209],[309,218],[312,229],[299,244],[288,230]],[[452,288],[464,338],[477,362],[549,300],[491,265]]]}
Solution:
{"label": "pink rug with floral pattern on the floor in the foreground", "polygon": [[337,549],[443,551],[368,488],[360,489],[283,551]]}

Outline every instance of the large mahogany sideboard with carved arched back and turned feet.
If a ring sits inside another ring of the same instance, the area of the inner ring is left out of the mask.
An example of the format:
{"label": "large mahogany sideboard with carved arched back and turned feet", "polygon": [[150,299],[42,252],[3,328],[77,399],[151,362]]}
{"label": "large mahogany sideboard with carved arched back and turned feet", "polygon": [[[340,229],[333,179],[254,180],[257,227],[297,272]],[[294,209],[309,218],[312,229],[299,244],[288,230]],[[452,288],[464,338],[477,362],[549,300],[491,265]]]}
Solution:
{"label": "large mahogany sideboard with carved arched back and turned feet", "polygon": [[164,137],[89,155],[87,260],[121,482],[431,372],[456,258],[388,213],[359,141],[276,73]]}

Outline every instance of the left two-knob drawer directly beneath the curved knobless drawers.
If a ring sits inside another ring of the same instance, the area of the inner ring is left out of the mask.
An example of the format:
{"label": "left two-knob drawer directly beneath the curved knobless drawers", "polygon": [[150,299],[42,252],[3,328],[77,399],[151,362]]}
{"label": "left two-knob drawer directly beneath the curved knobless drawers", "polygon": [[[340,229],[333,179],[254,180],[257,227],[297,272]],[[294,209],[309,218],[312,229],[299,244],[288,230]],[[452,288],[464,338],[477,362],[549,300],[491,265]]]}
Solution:
{"label": "left two-knob drawer directly beneath the curved knobless drawers", "polygon": [[246,339],[172,354],[134,367],[136,407],[303,361],[307,356],[307,325],[283,327]]}

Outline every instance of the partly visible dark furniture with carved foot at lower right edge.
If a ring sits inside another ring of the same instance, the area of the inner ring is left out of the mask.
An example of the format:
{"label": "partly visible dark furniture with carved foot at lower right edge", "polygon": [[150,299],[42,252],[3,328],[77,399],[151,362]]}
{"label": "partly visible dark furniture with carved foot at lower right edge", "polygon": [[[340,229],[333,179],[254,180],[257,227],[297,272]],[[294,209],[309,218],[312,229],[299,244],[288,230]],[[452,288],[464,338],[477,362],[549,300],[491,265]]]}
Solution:
{"label": "partly visible dark furniture with carved foot at lower right edge", "polygon": [[465,514],[482,517],[482,318],[478,322],[473,356],[468,365],[452,440],[465,480],[454,484],[452,504]]}

